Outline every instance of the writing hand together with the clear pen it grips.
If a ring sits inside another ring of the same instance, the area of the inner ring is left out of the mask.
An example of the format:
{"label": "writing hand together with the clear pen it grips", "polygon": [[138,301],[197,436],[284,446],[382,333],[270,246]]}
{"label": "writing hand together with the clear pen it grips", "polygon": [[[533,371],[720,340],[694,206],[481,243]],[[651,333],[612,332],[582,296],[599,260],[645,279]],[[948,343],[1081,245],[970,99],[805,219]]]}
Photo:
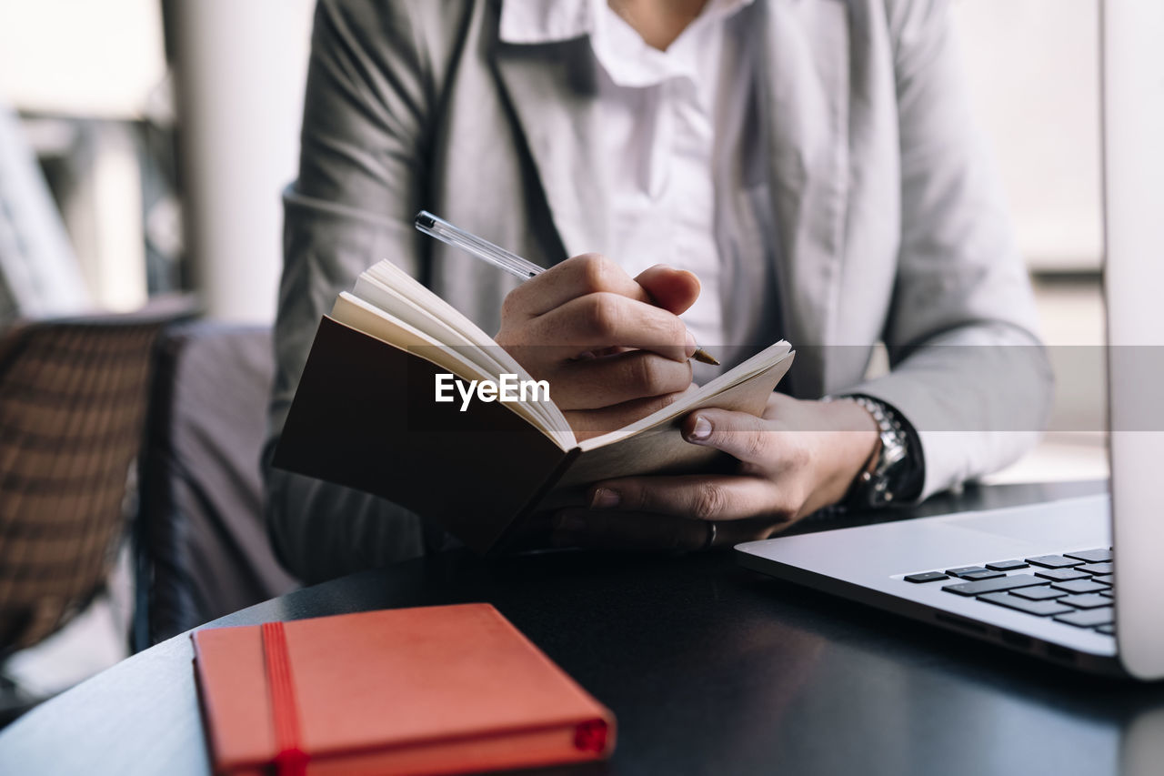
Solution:
{"label": "writing hand together with the clear pen it grips", "polygon": [[[700,348],[679,315],[700,294],[691,273],[656,266],[632,278],[598,254],[542,270],[431,213],[416,223],[527,281],[505,297],[495,339],[531,375],[549,381],[554,403],[580,436],[622,428],[690,387],[689,359]],[[595,353],[613,354],[587,358]]]}

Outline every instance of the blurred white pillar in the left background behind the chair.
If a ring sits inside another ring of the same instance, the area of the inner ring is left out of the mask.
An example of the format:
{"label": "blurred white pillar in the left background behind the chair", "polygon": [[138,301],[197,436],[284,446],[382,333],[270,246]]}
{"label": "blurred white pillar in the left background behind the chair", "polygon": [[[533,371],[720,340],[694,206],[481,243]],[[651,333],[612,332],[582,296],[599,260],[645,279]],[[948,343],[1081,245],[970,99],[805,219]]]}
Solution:
{"label": "blurred white pillar in the left background behind the chair", "polygon": [[279,193],[298,168],[314,0],[177,0],[177,97],[193,278],[211,317],[270,323]]}

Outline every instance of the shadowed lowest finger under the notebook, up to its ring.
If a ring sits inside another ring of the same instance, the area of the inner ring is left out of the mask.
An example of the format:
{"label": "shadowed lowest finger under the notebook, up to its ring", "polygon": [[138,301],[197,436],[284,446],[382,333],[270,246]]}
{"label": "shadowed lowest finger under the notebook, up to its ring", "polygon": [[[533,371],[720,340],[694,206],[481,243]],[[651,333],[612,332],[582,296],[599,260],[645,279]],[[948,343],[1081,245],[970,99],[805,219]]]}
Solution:
{"label": "shadowed lowest finger under the notebook, up to its ring", "polygon": [[565,509],[554,518],[556,546],[647,552],[690,552],[707,544],[708,525],[669,515]]}

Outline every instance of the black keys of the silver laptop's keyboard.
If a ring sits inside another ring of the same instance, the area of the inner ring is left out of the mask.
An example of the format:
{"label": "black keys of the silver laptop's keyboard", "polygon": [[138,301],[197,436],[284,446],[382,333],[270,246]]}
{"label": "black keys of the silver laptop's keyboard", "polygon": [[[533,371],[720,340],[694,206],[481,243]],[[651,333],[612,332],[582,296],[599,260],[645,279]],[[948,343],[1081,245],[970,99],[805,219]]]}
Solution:
{"label": "black keys of the silver laptop's keyboard", "polygon": [[1112,573],[1112,548],[1096,548],[922,571],[904,579],[916,585],[944,579],[942,590],[953,595],[1110,635],[1115,633]]}

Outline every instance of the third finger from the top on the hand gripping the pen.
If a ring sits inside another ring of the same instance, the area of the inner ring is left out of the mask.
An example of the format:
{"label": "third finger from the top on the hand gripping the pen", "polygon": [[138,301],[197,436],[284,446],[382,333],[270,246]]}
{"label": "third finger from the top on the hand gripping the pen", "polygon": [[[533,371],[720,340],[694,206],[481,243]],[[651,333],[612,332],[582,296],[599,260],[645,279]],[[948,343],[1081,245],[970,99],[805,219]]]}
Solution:
{"label": "third finger from the top on the hand gripping the pen", "polygon": [[549,380],[563,409],[601,409],[651,396],[680,393],[691,385],[690,361],[672,361],[648,351],[627,351],[569,361]]}

